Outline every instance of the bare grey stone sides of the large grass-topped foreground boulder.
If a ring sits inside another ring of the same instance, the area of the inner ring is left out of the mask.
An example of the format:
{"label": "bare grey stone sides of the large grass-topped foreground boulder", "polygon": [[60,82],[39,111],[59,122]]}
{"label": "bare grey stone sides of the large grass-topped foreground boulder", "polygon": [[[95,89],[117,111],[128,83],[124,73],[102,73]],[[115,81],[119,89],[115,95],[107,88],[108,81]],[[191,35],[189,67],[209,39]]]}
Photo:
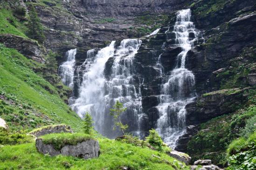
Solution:
{"label": "bare grey stone sides of the large grass-topped foreground boulder", "polygon": [[43,140],[38,138],[35,141],[37,150],[42,154],[50,156],[65,155],[76,156],[84,159],[94,158],[99,156],[99,143],[96,140],[89,139],[76,145],[65,145],[61,150],[55,150],[52,144],[44,144]]}

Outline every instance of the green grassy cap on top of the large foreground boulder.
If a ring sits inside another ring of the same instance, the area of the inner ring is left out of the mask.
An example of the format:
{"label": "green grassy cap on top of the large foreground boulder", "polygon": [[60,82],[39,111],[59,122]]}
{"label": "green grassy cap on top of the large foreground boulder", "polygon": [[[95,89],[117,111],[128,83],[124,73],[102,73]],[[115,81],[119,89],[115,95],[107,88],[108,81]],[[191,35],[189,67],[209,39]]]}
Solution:
{"label": "green grassy cap on top of the large foreground boulder", "polygon": [[77,143],[94,139],[93,136],[84,133],[54,133],[41,136],[40,138],[43,139],[43,143],[52,144],[55,150],[61,150],[67,144],[76,145]]}

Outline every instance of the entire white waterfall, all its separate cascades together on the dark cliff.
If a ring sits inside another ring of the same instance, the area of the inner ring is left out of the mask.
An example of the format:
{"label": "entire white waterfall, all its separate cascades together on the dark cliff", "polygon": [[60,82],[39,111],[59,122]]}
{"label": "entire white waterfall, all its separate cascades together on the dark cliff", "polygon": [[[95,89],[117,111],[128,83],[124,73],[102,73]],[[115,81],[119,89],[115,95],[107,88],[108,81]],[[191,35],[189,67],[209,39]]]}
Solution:
{"label": "entire white waterfall, all its separate cascades together on the dark cliff", "polygon": [[[157,34],[159,29],[152,35]],[[196,96],[194,90],[194,75],[185,68],[187,52],[198,40],[199,31],[191,21],[190,9],[177,12],[172,33],[175,37],[168,38],[170,27],[165,31],[166,41],[174,39],[173,48],[181,48],[176,56],[175,67],[166,71],[159,55],[156,70],[160,77],[160,94],[157,95],[156,106],[159,118],[152,128],[156,128],[160,136],[170,147],[175,148],[179,136],[186,131],[185,106]],[[191,38],[191,34],[193,34]],[[67,61],[59,68],[59,75],[64,84],[73,88],[73,80],[79,84],[79,95],[69,99],[69,104],[76,113],[83,117],[88,111],[92,115],[96,130],[108,137],[115,137],[109,109],[120,101],[127,107],[122,115],[122,122],[129,125],[129,131],[140,137],[145,137],[143,119],[147,117],[142,104],[141,89],[147,88],[144,77],[138,73],[135,62],[136,54],[141,47],[140,39],[125,39],[112,41],[108,47],[91,49],[83,64],[75,66],[76,49],[67,52]],[[166,48],[166,42],[162,48]],[[75,76],[76,75],[76,76]]]}

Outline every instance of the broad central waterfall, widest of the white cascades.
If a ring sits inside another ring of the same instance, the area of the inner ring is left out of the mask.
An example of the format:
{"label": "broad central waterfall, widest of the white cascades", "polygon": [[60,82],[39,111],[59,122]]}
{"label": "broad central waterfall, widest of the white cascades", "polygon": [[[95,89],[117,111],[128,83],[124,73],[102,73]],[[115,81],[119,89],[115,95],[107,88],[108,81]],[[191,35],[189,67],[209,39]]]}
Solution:
{"label": "broad central waterfall, widest of the white cascades", "polygon": [[109,116],[109,109],[117,100],[127,107],[122,120],[125,124],[131,124],[127,122],[129,117],[134,123],[130,130],[135,133],[139,129],[138,121],[142,114],[140,80],[134,76],[133,67],[133,58],[141,41],[125,39],[117,48],[115,43],[112,41],[96,55],[94,49],[87,52],[83,65],[77,68],[78,72],[83,73],[79,96],[71,104],[71,108],[80,117],[87,111],[90,112],[96,130],[110,137],[113,134],[113,122]]}

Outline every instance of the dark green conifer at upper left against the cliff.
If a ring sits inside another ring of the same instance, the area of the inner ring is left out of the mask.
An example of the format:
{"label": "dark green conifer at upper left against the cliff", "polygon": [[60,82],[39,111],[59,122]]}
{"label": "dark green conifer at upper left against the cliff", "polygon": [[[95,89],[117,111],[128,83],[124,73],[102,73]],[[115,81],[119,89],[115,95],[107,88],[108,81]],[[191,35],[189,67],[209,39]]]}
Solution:
{"label": "dark green conifer at upper left against the cliff", "polygon": [[35,8],[31,6],[28,18],[28,36],[32,39],[38,40],[42,43],[45,39],[43,34],[43,27],[40,19],[37,16]]}

